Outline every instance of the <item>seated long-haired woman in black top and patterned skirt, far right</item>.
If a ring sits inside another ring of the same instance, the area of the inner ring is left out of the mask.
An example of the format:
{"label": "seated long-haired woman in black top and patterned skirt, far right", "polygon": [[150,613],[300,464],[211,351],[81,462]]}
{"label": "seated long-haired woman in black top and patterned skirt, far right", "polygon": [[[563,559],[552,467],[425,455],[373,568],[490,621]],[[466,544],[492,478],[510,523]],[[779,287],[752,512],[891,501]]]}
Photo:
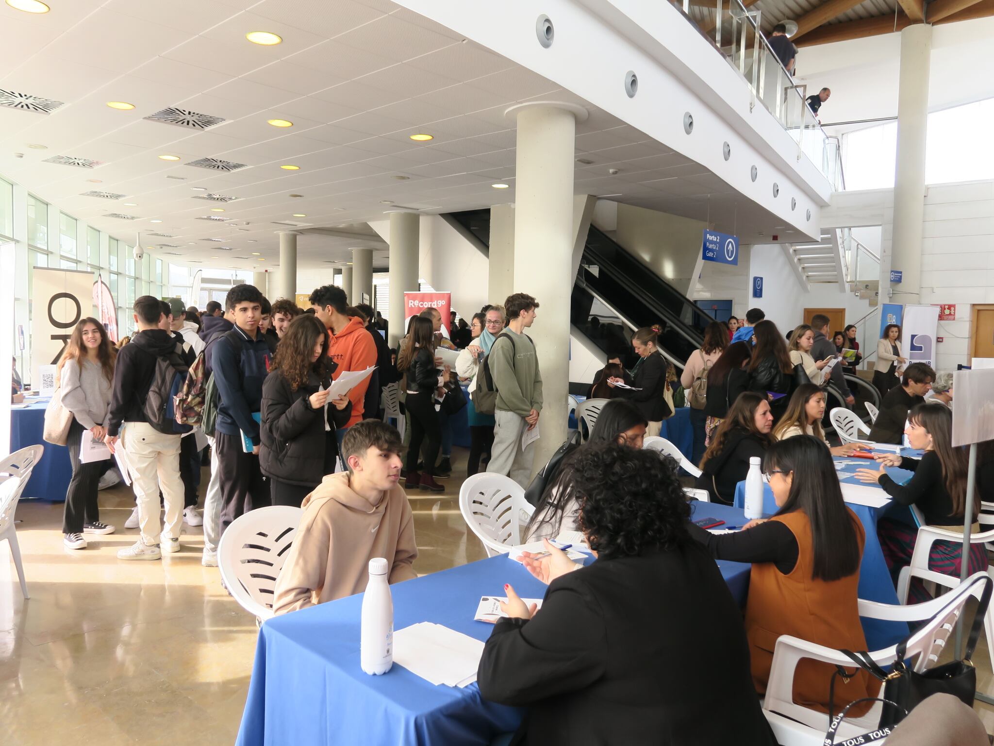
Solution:
{"label": "seated long-haired woman in black top and patterned skirt, far right", "polygon": [[[952,413],[945,407],[917,404],[908,415],[905,435],[912,449],[925,452],[921,459],[905,459],[897,454],[880,454],[874,458],[880,469],[861,468],[856,476],[862,481],[879,482],[884,491],[900,505],[914,505],[924,522],[937,528],[962,532],[966,511],[966,452],[952,446]],[[901,466],[914,472],[911,481],[899,484],[884,469]],[[980,495],[973,503],[973,533],[980,532],[976,522]],[[884,559],[897,585],[901,568],[911,563],[917,529],[893,518],[881,518],[877,535],[884,550]],[[962,563],[962,540],[936,541],[928,557],[928,569],[959,577]],[[972,544],[968,573],[987,568],[987,552],[983,544]],[[908,593],[908,603],[917,604],[931,598],[921,581],[914,579]]]}

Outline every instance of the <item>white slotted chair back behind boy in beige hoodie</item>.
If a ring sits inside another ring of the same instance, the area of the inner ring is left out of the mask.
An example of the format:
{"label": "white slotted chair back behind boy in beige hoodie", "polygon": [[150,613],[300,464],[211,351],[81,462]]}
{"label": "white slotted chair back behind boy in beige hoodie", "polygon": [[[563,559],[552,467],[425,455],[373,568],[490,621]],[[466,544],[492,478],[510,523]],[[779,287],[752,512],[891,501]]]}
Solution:
{"label": "white slotted chair back behind boy in beige hoodie", "polygon": [[272,618],[273,590],[303,510],[269,505],[236,518],[218,545],[218,567],[225,588],[257,619]]}

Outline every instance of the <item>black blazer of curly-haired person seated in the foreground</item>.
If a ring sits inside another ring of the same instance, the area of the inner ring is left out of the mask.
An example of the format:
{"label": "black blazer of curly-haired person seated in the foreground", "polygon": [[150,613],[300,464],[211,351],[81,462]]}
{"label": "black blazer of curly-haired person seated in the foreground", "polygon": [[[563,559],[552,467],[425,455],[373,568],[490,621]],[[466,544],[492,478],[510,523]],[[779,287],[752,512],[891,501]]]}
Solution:
{"label": "black blazer of curly-haired person seated in the foreground", "polygon": [[477,676],[483,698],[528,708],[513,744],[776,743],[742,612],[688,534],[555,580],[535,619],[495,625]]}

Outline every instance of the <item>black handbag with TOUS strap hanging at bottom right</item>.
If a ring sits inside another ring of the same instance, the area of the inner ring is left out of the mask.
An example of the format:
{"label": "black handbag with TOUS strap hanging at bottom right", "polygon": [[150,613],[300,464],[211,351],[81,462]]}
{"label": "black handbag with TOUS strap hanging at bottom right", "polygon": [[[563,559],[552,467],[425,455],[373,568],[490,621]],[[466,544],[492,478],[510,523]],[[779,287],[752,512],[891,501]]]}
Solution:
{"label": "black handbag with TOUS strap hanging at bottom right", "polygon": [[[984,591],[981,594],[980,603],[977,604],[973,627],[966,641],[966,652],[962,660],[952,660],[942,665],[935,665],[918,673],[905,662],[905,654],[908,650],[908,640],[906,639],[898,644],[897,657],[889,673],[877,664],[870,657],[870,653],[866,651],[860,653],[840,651],[850,657],[858,666],[883,681],[882,697],[899,705],[884,705],[884,711],[880,717],[881,727],[897,725],[905,719],[915,705],[932,694],[952,694],[967,706],[973,706],[973,699],[977,693],[977,670],[973,667],[971,658],[977,647],[977,641],[980,639],[980,629],[983,627],[987,606],[990,604],[991,588],[994,586],[994,581],[989,576],[984,576],[974,580],[973,583],[983,583]],[[848,675],[844,671],[845,669],[840,666],[838,673]]]}

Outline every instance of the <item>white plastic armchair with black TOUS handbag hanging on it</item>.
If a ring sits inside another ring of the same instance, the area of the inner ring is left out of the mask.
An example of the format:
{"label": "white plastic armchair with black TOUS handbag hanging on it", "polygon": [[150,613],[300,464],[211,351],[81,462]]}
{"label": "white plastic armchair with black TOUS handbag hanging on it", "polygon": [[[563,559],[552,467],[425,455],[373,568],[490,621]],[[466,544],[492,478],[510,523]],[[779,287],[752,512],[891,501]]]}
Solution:
{"label": "white plastic armchair with black TOUS handbag hanging on it", "polygon": [[[908,651],[905,654],[909,666],[920,672],[938,661],[967,599],[970,596],[980,598],[983,593],[985,584],[980,581],[985,577],[985,573],[976,573],[968,578],[961,588],[937,599],[912,606],[891,606],[860,599],[859,613],[861,617],[894,622],[930,620],[911,635],[908,640]],[[897,646],[872,651],[870,657],[882,666],[890,665],[897,657]],[[762,710],[780,746],[820,746],[828,729],[827,714],[793,702],[794,671],[802,658],[822,660],[833,665],[842,665],[847,669],[854,667],[853,661],[847,655],[831,648],[824,648],[789,635],[782,635],[777,639]],[[882,706],[877,702],[863,717],[847,719],[839,728],[836,742],[842,743],[847,738],[876,729],[880,722]],[[880,743],[884,743],[884,740]]]}

